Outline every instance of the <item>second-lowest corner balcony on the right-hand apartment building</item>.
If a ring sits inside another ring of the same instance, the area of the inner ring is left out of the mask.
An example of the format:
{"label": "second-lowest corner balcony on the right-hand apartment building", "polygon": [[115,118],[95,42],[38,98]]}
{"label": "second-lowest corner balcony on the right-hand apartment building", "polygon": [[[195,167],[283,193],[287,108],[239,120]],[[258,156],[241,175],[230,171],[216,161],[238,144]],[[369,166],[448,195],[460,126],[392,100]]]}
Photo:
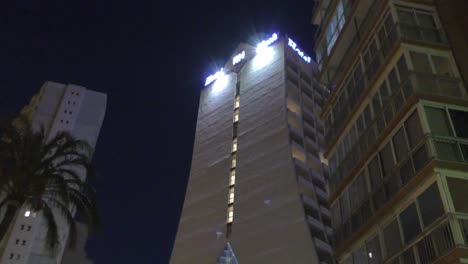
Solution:
{"label": "second-lowest corner balcony on the right-hand apartment building", "polygon": [[[401,199],[404,193],[411,191],[421,182],[428,174],[426,168],[430,169],[431,166],[462,166],[466,170],[468,167],[468,140],[431,134],[424,135],[419,143],[407,153],[406,158],[394,165],[391,172],[374,188],[375,191],[366,194],[364,202],[360,205],[360,207],[366,208],[361,214],[364,216],[361,217],[362,221],[352,226],[345,223],[337,229],[335,238],[338,247],[355,239],[353,234],[359,234],[368,229],[368,225],[377,221],[376,217],[389,210],[389,207]],[[372,201],[371,205],[369,201]]]}

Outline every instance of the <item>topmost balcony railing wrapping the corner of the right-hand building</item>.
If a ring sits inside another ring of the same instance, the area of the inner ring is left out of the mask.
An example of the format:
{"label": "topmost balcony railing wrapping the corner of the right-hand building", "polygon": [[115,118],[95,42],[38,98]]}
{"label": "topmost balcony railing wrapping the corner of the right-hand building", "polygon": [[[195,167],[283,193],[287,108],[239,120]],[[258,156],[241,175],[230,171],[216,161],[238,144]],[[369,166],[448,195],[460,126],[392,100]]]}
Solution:
{"label": "topmost balcony railing wrapping the corner of the right-hand building", "polygon": [[[408,24],[395,23],[387,37],[384,40],[380,39],[380,49],[377,50],[376,54],[371,58],[364,74],[361,75],[359,80],[355,80],[356,87],[351,89],[352,94],[348,95],[349,98],[345,103],[339,105],[341,111],[334,113],[334,122],[331,124],[326,134],[326,142],[329,142],[328,144],[331,144],[334,139],[336,139],[341,128],[346,124],[346,120],[349,120],[349,115],[353,112],[353,108],[355,108],[357,104],[361,103],[357,99],[361,93],[366,90],[366,87],[372,83],[372,80],[379,69],[386,66],[386,64],[383,65],[383,62],[389,55],[390,50],[398,43],[399,40],[420,41],[436,44],[446,43],[445,35],[441,29],[423,28]],[[340,67],[342,67],[343,70],[338,70],[337,72],[341,71],[342,73],[344,73],[344,69],[354,68],[350,67],[347,63],[341,63]],[[341,78],[341,76],[339,77]],[[337,76],[335,76],[333,80],[334,81],[332,81],[332,83],[337,81]]]}

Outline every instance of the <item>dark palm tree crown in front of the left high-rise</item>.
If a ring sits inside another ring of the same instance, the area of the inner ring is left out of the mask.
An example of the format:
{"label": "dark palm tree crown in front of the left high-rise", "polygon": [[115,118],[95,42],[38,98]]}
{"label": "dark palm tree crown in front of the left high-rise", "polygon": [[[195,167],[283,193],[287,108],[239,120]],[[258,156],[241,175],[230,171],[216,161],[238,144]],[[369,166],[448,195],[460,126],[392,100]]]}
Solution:
{"label": "dark palm tree crown in front of the left high-rise", "polygon": [[95,176],[90,162],[93,149],[68,132],[48,138],[43,128],[34,129],[25,117],[0,124],[0,241],[21,208],[43,216],[46,244],[60,243],[58,218],[69,227],[69,246],[76,240],[75,212],[92,232],[99,225],[95,190],[85,177]]}

